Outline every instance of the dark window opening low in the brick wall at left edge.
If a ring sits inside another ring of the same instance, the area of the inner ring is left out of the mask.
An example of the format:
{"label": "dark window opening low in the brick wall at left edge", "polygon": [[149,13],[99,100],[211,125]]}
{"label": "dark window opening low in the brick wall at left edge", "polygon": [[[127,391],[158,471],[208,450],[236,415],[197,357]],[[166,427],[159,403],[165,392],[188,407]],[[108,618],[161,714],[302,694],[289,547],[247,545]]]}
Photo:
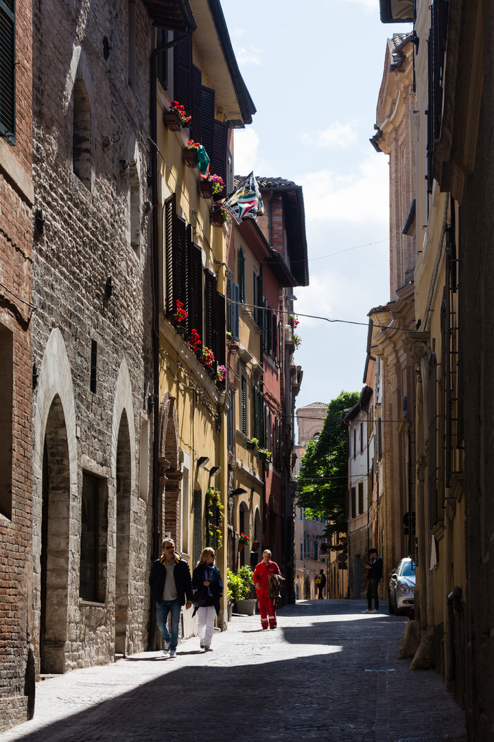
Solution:
{"label": "dark window opening low in the brick wall at left edge", "polygon": [[0,324],[0,513],[12,518],[13,333]]}

